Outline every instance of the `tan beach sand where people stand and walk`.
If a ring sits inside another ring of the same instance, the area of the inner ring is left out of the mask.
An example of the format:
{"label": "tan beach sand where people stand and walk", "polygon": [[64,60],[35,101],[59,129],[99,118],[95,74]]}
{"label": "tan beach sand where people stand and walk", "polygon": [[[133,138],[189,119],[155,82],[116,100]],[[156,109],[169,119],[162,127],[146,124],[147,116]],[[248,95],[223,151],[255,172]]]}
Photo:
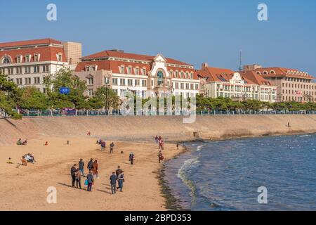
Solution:
{"label": "tan beach sand where people stand and walk", "polygon": [[[44,146],[45,141],[48,146]],[[28,140],[27,146],[0,146],[0,210],[166,210],[157,179],[161,169],[157,160],[158,145],[114,143],[113,155],[109,154],[109,140],[102,152],[94,138],[41,137]],[[179,146],[179,149],[172,143],[165,143],[165,160],[180,154],[183,148]],[[136,155],[135,165],[129,163],[131,152]],[[37,162],[16,168],[20,157],[26,153],[32,153]],[[12,158],[13,165],[6,164],[8,158]],[[78,164],[80,158],[85,162],[85,174],[88,160],[98,160],[100,179],[96,179],[91,193],[86,191],[84,178],[81,179],[84,190],[71,187],[70,168]],[[124,188],[123,192],[112,195],[110,175],[118,165],[124,170]],[[46,190],[50,186],[57,188],[56,204],[46,201]]]}

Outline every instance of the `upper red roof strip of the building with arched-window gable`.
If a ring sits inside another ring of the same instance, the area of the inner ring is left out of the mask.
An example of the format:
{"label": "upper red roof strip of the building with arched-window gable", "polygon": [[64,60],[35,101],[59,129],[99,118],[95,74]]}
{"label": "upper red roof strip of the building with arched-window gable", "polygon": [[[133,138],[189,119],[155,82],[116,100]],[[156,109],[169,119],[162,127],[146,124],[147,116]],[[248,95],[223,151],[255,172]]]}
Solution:
{"label": "upper red roof strip of the building with arched-window gable", "polygon": [[[143,61],[151,62],[152,60],[154,60],[156,56],[145,56],[145,55],[134,54],[134,53],[124,53],[121,51],[101,51],[99,53],[95,53],[90,56],[85,56],[81,58],[81,60],[87,60],[87,59],[92,59],[92,58],[107,58],[107,57],[129,58],[129,59],[134,59],[134,60],[143,60]],[[192,66],[188,63],[183,63],[173,58],[166,58],[166,63]]]}

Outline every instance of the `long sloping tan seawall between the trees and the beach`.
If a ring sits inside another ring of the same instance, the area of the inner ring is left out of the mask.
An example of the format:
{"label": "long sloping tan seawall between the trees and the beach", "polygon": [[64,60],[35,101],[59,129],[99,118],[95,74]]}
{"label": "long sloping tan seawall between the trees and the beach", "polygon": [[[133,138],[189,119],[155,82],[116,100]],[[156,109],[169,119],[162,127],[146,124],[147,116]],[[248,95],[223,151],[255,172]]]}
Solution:
{"label": "long sloping tan seawall between the trees and the beach", "polygon": [[[290,122],[291,127],[287,127]],[[0,144],[39,136],[91,136],[112,140],[166,141],[231,139],[237,137],[316,132],[316,115],[207,115],[184,124],[180,116],[155,117],[36,117],[0,120]]]}

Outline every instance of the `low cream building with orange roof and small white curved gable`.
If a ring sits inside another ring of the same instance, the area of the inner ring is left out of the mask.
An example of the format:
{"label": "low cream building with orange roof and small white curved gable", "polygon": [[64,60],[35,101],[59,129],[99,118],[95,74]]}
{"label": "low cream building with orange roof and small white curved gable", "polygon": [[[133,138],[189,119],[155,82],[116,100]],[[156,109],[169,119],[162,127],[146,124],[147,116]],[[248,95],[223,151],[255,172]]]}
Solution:
{"label": "low cream building with orange roof and small white curved gable", "polygon": [[222,68],[210,68],[203,63],[197,76],[204,80],[204,96],[208,98],[232,98],[233,101],[258,100],[274,103],[277,86],[254,72],[234,72]]}

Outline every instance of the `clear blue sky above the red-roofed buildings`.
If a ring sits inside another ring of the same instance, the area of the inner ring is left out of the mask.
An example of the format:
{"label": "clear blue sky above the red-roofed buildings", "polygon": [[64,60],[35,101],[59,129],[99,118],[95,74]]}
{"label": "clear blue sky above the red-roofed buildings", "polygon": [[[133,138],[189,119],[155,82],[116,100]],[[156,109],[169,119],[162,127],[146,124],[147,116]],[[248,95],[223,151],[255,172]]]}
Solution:
{"label": "clear blue sky above the red-roofed buildings", "polygon": [[[46,6],[57,5],[57,21]],[[258,4],[268,21],[258,21]],[[0,42],[51,37],[79,41],[83,55],[122,49],[183,60],[200,68],[243,64],[316,75],[315,0],[0,1]]]}

